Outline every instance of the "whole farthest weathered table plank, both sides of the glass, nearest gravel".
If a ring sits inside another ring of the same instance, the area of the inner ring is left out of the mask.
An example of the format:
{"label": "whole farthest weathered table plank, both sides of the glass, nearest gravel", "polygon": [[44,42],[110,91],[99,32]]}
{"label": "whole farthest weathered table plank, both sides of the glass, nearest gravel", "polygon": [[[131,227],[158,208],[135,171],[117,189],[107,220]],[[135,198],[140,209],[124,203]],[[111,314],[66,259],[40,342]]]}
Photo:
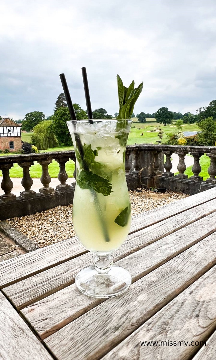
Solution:
{"label": "whole farthest weathered table plank, both sides of the glass, nearest gravel", "polygon": [[[150,210],[144,214],[136,215],[132,218],[130,233],[215,198],[216,189],[212,188],[203,193]],[[51,267],[85,252],[86,249],[81,245],[77,237],[74,237],[63,240],[58,244],[32,251],[19,257],[19,259],[7,260],[8,262],[5,261],[3,264],[0,264],[0,288],[45,270],[48,266],[47,257],[50,258],[49,267]]]}

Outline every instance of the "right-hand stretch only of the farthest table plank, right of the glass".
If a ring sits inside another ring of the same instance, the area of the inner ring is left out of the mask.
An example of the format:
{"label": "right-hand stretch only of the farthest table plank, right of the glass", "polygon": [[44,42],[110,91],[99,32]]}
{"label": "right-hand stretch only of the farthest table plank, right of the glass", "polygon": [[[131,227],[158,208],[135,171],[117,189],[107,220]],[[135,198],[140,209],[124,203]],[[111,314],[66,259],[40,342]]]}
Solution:
{"label": "right-hand stretch only of the farthest table plank, right of the glass", "polygon": [[135,215],[133,216],[133,220],[131,222],[130,233],[140,229],[140,225],[144,229],[146,226],[153,225],[154,223],[167,219],[170,216],[174,216],[178,213],[189,210],[190,208],[198,206],[199,204],[206,201],[210,201],[215,197],[216,189],[212,188],[205,192],[187,197],[186,199],[181,199],[173,203],[166,204],[162,207],[149,210],[145,213]]}

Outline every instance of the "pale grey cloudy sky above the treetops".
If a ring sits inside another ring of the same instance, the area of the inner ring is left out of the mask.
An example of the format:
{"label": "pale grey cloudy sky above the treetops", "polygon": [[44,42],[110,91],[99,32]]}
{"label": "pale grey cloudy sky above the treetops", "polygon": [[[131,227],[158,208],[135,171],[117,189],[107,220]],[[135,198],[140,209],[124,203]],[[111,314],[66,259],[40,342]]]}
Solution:
{"label": "pale grey cloudy sky above the treetops", "polygon": [[216,98],[215,0],[1,0],[0,115],[53,113],[65,73],[72,101],[118,111],[116,75],[144,82],[135,114],[192,112]]}

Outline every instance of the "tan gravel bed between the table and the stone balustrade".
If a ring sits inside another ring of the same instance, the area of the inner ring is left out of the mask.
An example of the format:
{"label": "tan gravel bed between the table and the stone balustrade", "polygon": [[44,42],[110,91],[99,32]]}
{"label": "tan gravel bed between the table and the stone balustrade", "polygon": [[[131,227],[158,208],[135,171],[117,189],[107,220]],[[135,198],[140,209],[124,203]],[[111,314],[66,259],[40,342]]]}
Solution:
{"label": "tan gravel bed between the table and the stone balustrade", "polygon": [[[179,193],[154,193],[146,189],[130,190],[132,215],[183,199],[189,195]],[[75,236],[72,220],[73,205],[57,206],[33,215],[6,220],[40,247]]]}

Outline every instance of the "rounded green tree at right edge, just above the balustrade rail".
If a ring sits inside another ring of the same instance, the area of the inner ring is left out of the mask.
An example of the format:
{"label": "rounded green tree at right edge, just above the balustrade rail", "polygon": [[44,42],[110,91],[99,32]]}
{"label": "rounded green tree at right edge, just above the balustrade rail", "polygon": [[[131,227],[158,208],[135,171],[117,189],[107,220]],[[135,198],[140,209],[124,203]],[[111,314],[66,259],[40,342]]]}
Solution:
{"label": "rounded green tree at right edge, just above the balustrade rail", "polygon": [[213,116],[207,117],[198,123],[199,129],[202,130],[197,134],[199,144],[204,146],[213,146],[216,141],[216,121]]}

